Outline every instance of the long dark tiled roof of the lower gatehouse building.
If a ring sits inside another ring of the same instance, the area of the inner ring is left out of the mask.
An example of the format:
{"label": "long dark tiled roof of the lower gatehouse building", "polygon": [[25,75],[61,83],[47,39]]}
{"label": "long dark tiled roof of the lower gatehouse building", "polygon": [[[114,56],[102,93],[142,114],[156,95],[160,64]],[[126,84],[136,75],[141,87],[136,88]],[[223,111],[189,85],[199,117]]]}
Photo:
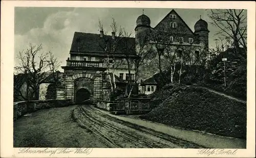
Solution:
{"label": "long dark tiled roof of the lower gatehouse building", "polygon": [[[118,37],[117,37],[118,38]],[[119,38],[120,39],[120,38]],[[126,37],[125,41],[128,41],[130,44],[129,48],[134,48],[133,54],[135,54],[135,38]],[[106,35],[104,37],[100,37],[100,34],[94,33],[82,33],[75,32],[73,41],[71,44],[70,53],[104,53],[104,44],[105,41],[111,41],[112,36]],[[120,40],[124,41],[124,40]],[[118,42],[119,43],[119,42]],[[118,48],[116,50],[116,54],[123,54],[123,44],[117,44]]]}

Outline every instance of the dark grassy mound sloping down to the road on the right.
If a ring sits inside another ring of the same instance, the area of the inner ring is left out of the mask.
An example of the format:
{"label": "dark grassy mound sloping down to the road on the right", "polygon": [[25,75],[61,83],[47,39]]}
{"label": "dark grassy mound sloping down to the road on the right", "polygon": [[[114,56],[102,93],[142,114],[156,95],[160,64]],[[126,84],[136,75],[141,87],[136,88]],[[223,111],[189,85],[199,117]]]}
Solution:
{"label": "dark grassy mound sloping down to the road on the right", "polygon": [[154,122],[246,138],[246,104],[212,94],[206,89],[166,85],[154,94],[150,113],[140,116]]}

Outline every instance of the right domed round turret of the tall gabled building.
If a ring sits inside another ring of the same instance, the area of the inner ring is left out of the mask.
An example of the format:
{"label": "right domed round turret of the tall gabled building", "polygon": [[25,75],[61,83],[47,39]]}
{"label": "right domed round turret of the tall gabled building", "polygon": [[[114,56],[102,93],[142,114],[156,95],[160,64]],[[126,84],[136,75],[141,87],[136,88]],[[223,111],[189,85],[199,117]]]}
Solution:
{"label": "right domed round turret of the tall gabled building", "polygon": [[200,19],[196,22],[195,26],[195,34],[198,35],[200,43],[205,44],[206,48],[208,48],[208,38],[209,38],[209,30],[208,24],[205,20]]}

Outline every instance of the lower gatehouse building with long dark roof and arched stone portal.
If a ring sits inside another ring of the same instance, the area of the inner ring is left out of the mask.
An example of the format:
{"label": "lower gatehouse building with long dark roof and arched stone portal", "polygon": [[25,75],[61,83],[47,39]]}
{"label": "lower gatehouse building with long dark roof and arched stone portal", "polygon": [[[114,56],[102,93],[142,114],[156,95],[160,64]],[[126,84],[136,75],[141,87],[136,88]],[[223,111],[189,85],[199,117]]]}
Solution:
{"label": "lower gatehouse building with long dark roof and arched stone portal", "polygon": [[[138,56],[135,52],[129,52],[129,55],[125,53],[121,44],[116,44],[114,50],[115,38],[119,37],[113,33],[112,36],[103,35],[101,31],[99,34],[74,33],[70,57],[66,60],[66,66],[62,66],[64,79],[62,86],[57,88],[57,99],[77,102],[109,100],[113,89],[124,91],[125,83],[130,78],[134,80],[133,60]],[[135,48],[135,38],[125,41],[130,48]]]}

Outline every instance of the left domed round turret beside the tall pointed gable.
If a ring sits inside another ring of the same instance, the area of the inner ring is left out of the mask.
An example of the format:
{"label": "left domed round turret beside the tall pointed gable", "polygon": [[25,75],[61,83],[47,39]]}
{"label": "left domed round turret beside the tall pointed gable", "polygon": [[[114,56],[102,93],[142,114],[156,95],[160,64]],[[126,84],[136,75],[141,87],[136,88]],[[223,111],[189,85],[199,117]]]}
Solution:
{"label": "left domed round turret beside the tall pointed gable", "polygon": [[135,27],[135,40],[136,43],[144,41],[145,35],[150,33],[151,26],[150,26],[150,18],[144,14],[144,10],[142,15],[140,15],[136,20],[136,27]]}

